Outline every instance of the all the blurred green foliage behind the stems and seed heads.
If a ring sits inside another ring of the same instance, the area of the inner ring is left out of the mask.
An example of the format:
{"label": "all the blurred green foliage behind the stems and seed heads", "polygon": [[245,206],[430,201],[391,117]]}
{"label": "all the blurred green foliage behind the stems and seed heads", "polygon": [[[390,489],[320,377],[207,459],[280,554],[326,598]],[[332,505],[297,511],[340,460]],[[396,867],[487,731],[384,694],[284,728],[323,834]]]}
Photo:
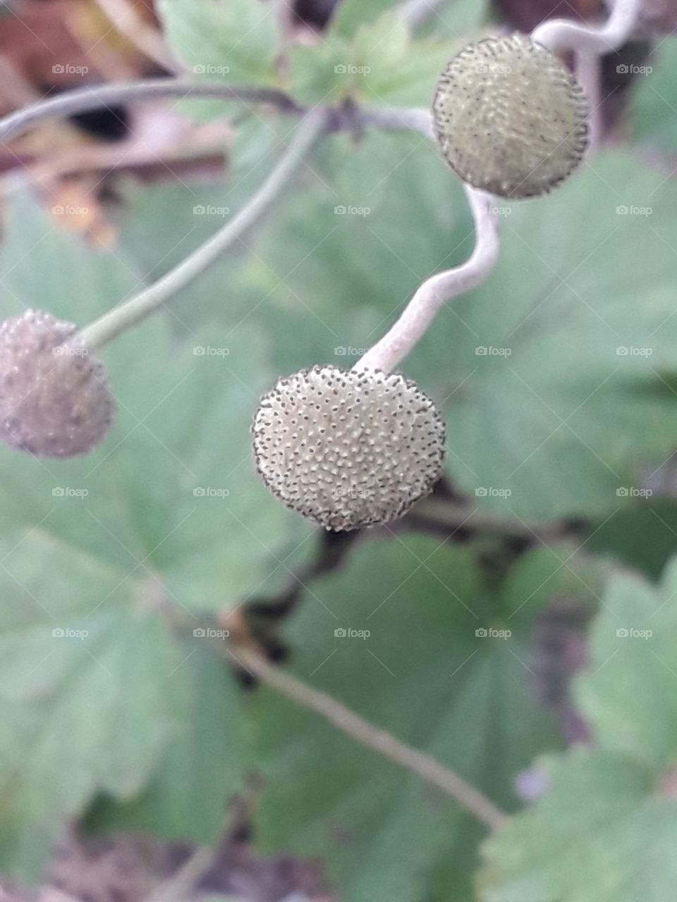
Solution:
{"label": "all the blurred green foliage behind the stems and seed heads", "polygon": [[[280,74],[273,8],[161,3],[196,77],[384,109],[427,106],[487,16],[450,0],[414,34],[388,0],[345,0]],[[677,570],[656,588],[629,568],[657,579],[677,536],[669,479],[650,497],[677,436],[674,47],[630,87],[632,142],[552,197],[497,205],[496,271],[403,364],[444,410],[458,529],[405,521],[315,572],[318,537],[264,490],[249,446],[276,376],[353,364],[423,279],[467,259],[463,190],[413,133],[329,135],[272,216],[104,349],[118,416],[95,454],[0,450],[5,870],[35,877],[75,815],[212,842],[255,772],[255,841],[320,857],[350,902],[672,898]],[[37,306],[84,324],[158,278],[246,202],[295,127],[246,109],[217,184],[120,181],[113,253],[17,192],[5,315]],[[276,637],[292,671],[515,815],[481,865],[484,831],[457,805],[271,690],[243,699],[210,618],[288,601],[300,567],[301,604]],[[543,686],[558,603],[580,643],[592,621],[571,690],[570,661],[555,675],[593,740],[573,751]],[[541,788],[530,806],[525,775]]]}

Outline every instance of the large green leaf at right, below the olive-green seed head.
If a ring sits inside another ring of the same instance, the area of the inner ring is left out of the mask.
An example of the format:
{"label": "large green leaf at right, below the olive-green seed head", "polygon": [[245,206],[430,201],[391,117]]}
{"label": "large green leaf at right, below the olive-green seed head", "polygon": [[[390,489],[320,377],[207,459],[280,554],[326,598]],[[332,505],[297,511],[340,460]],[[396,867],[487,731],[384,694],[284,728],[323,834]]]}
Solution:
{"label": "large green leaf at right, below the olive-green seed head", "polygon": [[[662,184],[614,154],[552,197],[505,205],[496,271],[455,302],[442,390],[451,472],[479,503],[615,511],[672,448],[677,186]],[[440,333],[420,349],[438,360]]]}

